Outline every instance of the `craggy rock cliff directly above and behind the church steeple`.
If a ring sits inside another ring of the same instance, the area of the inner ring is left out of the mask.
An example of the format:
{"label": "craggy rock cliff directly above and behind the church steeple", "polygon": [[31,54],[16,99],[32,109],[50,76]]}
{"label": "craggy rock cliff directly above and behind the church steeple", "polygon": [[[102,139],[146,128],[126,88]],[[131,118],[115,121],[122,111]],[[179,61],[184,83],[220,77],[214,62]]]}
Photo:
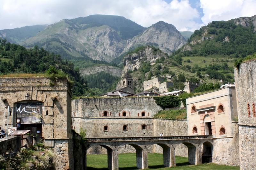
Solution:
{"label": "craggy rock cliff directly above and behind the church steeple", "polygon": [[156,59],[160,59],[161,57],[167,58],[167,55],[152,46],[146,46],[138,52],[126,55],[124,57],[123,72],[134,70],[135,68],[139,69],[141,62],[149,62],[150,64],[154,64],[156,63]]}

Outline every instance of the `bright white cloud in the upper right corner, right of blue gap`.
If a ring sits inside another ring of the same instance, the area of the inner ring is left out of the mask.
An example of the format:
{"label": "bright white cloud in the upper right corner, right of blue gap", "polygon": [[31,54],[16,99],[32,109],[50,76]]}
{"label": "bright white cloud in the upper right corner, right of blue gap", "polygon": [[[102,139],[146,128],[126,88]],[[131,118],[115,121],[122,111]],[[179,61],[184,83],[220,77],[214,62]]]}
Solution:
{"label": "bright white cloud in the upper right corner, right of blue gap", "polygon": [[251,17],[256,14],[256,0],[200,0],[207,25],[211,21],[230,20],[239,17]]}

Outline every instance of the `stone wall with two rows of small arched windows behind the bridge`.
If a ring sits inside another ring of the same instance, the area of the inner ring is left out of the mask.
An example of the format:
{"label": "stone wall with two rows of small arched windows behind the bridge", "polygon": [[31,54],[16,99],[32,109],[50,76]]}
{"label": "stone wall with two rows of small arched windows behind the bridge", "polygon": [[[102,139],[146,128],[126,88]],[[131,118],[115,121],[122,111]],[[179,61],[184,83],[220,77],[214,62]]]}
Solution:
{"label": "stone wall with two rows of small arched windows behind the bridge", "polygon": [[[87,137],[148,137],[187,135],[186,120],[154,119],[162,110],[153,97],[137,98],[84,98],[72,100],[72,127],[77,132],[87,129]],[[126,115],[123,115],[124,112]],[[126,129],[124,129],[124,125]],[[142,127],[144,125],[144,127]],[[106,127],[107,126],[107,127]],[[105,129],[104,129],[105,127]],[[90,148],[87,153],[106,153],[101,146]],[[136,152],[130,145],[119,153]],[[161,153],[162,148],[153,145],[149,152]],[[177,146],[176,155],[187,156],[187,147]]]}

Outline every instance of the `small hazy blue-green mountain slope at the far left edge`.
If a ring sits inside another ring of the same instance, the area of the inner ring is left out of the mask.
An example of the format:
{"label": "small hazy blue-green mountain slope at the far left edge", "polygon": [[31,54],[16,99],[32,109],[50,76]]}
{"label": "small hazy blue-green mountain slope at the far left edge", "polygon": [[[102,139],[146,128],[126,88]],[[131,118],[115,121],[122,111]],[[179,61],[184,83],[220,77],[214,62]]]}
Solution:
{"label": "small hazy blue-green mountain slope at the far left edge", "polygon": [[24,45],[26,43],[26,39],[33,37],[45,28],[46,25],[34,25],[14,29],[4,29],[0,30],[0,37],[3,39],[6,38],[7,41],[11,43]]}

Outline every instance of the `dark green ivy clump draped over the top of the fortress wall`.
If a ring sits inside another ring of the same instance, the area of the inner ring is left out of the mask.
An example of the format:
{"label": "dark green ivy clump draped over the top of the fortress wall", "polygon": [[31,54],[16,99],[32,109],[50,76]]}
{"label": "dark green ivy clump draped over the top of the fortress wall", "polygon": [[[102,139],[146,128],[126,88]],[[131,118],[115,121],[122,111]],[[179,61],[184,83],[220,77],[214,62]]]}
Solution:
{"label": "dark green ivy clump draped over the top of the fortress wall", "polygon": [[163,109],[172,108],[172,107],[180,107],[180,99],[177,96],[161,96],[154,97],[156,104]]}

